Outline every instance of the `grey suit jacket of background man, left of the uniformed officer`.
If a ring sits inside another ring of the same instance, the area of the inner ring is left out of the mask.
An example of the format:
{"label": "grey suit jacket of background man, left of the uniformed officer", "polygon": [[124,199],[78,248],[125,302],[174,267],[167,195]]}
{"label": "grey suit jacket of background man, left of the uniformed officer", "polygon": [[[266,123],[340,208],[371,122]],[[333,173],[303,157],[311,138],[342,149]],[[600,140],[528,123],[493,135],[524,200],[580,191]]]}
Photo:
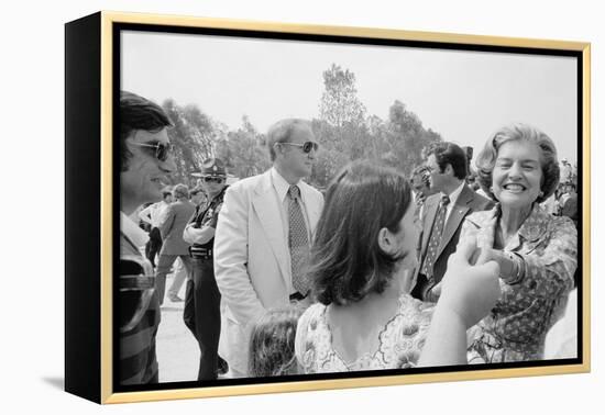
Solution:
{"label": "grey suit jacket of background man, left of the uniformed officer", "polygon": [[189,244],[183,240],[183,231],[194,213],[196,206],[188,200],[172,203],[166,209],[158,226],[164,240],[160,255],[189,255]]}

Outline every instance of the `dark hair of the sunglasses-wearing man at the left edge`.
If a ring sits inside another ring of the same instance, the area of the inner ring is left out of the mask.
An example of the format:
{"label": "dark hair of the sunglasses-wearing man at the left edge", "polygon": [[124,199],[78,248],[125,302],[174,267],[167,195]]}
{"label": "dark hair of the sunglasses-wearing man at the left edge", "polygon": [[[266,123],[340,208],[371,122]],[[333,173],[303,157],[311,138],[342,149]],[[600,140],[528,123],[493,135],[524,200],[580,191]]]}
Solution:
{"label": "dark hair of the sunglasses-wearing man at the left edge", "polygon": [[138,130],[156,133],[172,125],[162,106],[135,93],[120,92],[120,171],[128,170],[132,153],[128,149],[127,138]]}

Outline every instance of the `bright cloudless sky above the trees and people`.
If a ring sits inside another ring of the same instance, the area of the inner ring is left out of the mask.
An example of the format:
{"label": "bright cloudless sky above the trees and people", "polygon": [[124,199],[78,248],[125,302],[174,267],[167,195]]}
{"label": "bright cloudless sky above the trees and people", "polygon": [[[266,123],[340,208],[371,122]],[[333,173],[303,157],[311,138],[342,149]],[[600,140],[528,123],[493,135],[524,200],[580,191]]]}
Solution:
{"label": "bright cloudless sky above the trees and people", "polygon": [[284,117],[319,116],[322,71],[355,74],[369,114],[395,100],[443,139],[479,150],[512,122],[532,124],[576,160],[576,60],[571,57],[122,33],[122,89],[157,103],[197,104],[230,128],[261,132]]}

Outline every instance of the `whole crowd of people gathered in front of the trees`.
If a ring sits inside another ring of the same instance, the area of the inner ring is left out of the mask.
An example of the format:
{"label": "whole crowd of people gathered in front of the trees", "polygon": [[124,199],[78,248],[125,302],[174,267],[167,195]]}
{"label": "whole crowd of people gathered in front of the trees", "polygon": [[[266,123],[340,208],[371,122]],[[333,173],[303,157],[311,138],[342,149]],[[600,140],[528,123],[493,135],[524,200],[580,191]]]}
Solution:
{"label": "whole crowd of people gathered in front of the trees", "polygon": [[551,327],[573,318],[576,175],[539,130],[497,131],[476,172],[439,142],[409,180],[356,160],[320,192],[311,124],[287,119],[266,172],[227,186],[209,158],[168,190],[164,111],[122,92],[120,122],[121,384],[157,382],[161,305],[185,281],[199,381],[575,356]]}

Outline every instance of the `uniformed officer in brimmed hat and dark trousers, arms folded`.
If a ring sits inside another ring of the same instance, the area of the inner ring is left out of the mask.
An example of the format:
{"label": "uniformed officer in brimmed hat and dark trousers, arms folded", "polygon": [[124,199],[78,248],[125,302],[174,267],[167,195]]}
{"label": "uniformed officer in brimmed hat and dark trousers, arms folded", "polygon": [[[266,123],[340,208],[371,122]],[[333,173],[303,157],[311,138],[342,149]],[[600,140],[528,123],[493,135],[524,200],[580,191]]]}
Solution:
{"label": "uniformed officer in brimmed hat and dark trousers, arms folded", "polygon": [[193,278],[187,281],[183,319],[198,341],[198,380],[212,380],[218,375],[221,330],[221,294],[215,280],[212,259],[215,229],[227,189],[223,162],[218,158],[205,160],[198,177],[201,177],[200,186],[208,203],[205,209],[197,210],[183,233],[185,242],[190,244],[193,266]]}

